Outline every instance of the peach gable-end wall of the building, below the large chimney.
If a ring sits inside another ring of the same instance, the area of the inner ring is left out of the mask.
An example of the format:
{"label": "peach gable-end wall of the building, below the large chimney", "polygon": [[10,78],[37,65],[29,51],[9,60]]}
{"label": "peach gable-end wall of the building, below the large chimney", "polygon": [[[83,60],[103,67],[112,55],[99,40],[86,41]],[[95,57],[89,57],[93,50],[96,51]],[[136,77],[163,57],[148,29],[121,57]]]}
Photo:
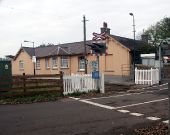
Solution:
{"label": "peach gable-end wall of the building, below the large chimney", "polygon": [[108,55],[105,56],[105,64],[101,64],[101,66],[105,65],[105,74],[107,75],[129,75],[130,71],[127,71],[126,74],[123,73],[122,67],[124,65],[130,67],[130,53],[129,49],[120,44],[118,41],[110,38],[107,40],[108,46]]}

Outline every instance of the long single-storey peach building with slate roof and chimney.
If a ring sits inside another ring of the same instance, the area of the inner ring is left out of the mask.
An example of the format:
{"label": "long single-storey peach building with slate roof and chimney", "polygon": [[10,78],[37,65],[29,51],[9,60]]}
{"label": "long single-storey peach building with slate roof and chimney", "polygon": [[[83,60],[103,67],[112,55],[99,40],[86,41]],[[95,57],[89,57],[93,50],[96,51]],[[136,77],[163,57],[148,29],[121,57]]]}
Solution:
{"label": "long single-storey peach building with slate roof and chimney", "polygon": [[[103,25],[101,33],[106,32],[107,55],[99,56],[99,70],[105,75],[129,75],[132,64],[133,39],[110,34],[107,25]],[[141,41],[136,41],[141,43]],[[92,44],[92,40],[87,41]],[[32,57],[36,56],[34,66]],[[91,48],[87,46],[87,72],[91,73],[92,63],[96,56],[91,54]],[[12,74],[65,74],[85,72],[84,42],[74,42],[59,45],[21,47],[12,60]]]}

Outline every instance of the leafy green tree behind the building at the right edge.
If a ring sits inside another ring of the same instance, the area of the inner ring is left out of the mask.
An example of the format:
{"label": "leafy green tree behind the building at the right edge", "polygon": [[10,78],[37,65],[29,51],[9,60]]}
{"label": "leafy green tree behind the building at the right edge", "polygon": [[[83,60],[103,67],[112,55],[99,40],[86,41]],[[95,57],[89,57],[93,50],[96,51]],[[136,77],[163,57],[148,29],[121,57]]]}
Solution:
{"label": "leafy green tree behind the building at the right edge", "polygon": [[170,38],[170,17],[165,17],[155,25],[150,26],[143,34],[148,34],[150,43],[159,45],[161,40]]}

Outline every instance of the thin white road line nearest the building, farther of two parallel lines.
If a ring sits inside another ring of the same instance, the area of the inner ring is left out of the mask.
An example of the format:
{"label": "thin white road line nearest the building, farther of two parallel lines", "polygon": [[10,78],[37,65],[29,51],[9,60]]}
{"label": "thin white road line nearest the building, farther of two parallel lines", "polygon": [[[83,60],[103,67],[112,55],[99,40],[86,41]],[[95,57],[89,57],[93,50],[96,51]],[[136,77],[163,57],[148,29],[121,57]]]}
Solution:
{"label": "thin white road line nearest the building, farther of two parallel lines", "polygon": [[162,90],[166,90],[166,89],[168,89],[168,88],[163,88],[160,90],[153,90],[153,91],[144,91],[144,92],[139,92],[139,93],[129,93],[129,94],[123,94],[123,95],[108,96],[108,97],[88,98],[88,99],[84,99],[84,100],[116,98],[116,97],[130,96],[130,95],[140,95],[140,94],[144,94],[144,93],[154,93],[154,92],[158,92],[158,91],[162,91]]}

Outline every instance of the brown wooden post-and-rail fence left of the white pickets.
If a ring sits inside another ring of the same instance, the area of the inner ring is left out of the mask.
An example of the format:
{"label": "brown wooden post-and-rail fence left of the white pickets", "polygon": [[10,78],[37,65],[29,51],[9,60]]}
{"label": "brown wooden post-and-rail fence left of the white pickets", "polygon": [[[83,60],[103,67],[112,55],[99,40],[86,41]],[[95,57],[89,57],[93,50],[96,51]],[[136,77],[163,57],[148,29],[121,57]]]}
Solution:
{"label": "brown wooden post-and-rail fence left of the white pickets", "polygon": [[0,91],[59,90],[63,91],[63,73],[55,75],[18,75],[0,78]]}

